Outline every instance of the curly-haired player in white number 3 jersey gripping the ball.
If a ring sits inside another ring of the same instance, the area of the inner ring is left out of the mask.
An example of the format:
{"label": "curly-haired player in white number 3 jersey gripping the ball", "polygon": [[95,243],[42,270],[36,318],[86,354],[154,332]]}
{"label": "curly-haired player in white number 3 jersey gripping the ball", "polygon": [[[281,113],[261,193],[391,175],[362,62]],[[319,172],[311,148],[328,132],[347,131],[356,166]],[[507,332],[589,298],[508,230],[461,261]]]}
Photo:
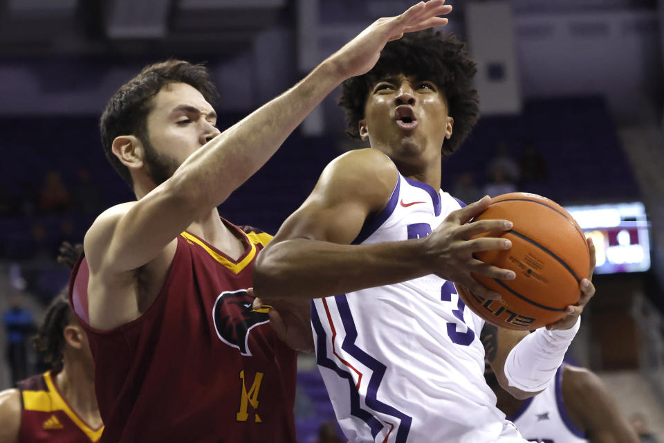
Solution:
{"label": "curly-haired player in white number 3 jersey gripping the ball", "polygon": [[461,208],[440,190],[443,156],[479,115],[475,71],[453,35],[419,32],[388,43],[374,69],[342,87],[349,132],[371,148],[330,163],[259,255],[257,296],[277,310],[279,299],[315,298],[317,363],[350,442],[525,442],[495,407],[485,354],[512,395],[535,395],[593,296],[581,280],[582,298],[562,320],[529,336],[492,329],[485,352],[484,321],[465,309],[452,281],[499,297],[471,272],[515,274],[472,253],[510,242],[470,237],[511,226],[468,224],[489,199]]}

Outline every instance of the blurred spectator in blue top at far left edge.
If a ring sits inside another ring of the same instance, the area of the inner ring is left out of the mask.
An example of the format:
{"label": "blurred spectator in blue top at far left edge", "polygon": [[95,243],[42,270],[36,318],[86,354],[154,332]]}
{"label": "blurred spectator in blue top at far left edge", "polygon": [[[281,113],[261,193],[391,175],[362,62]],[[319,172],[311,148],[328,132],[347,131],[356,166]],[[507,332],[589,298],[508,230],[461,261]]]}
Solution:
{"label": "blurred spectator in blue top at far left edge", "polygon": [[28,377],[28,338],[36,330],[33,314],[23,307],[23,293],[10,295],[10,307],[3,315],[7,332],[7,361],[12,371],[12,384]]}

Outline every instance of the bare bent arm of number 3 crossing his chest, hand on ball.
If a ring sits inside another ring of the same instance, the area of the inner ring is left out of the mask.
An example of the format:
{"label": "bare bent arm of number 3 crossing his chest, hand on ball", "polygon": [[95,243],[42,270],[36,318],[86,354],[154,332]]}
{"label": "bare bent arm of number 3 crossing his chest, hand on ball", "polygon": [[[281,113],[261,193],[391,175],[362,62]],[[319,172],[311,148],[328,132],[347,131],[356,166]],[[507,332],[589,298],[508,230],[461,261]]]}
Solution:
{"label": "bare bent arm of number 3 crossing his chest, hand on ball", "polygon": [[461,280],[490,296],[470,272],[506,278],[506,271],[477,262],[472,252],[509,246],[492,237],[468,238],[478,232],[504,230],[505,221],[465,224],[486,209],[488,198],[454,211],[423,239],[350,244],[367,217],[385,207],[397,174],[394,163],[372,149],[349,152],[330,163],[308,199],[261,251],[254,271],[257,296],[266,302],[317,298],[432,273]]}

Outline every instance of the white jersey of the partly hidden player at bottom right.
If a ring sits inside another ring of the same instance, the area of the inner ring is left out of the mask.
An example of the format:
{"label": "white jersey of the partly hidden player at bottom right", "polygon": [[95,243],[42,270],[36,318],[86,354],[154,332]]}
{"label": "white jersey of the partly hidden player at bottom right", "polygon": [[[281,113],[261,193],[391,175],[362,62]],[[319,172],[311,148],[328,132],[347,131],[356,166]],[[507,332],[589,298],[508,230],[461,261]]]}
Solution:
{"label": "white jersey of the partly hidden player at bottom right", "polygon": [[517,413],[510,417],[528,440],[540,443],[588,443],[585,433],[567,416],[562,401],[562,368],[551,379],[545,390],[526,400]]}

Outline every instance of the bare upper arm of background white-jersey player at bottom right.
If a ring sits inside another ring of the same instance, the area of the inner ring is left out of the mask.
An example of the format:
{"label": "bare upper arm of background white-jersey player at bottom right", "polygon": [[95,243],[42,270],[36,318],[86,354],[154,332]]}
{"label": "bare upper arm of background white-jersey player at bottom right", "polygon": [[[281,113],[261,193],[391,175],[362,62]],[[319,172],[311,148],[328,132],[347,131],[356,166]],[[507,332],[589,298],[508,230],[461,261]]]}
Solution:
{"label": "bare upper arm of background white-jersey player at bottom right", "polygon": [[562,397],[571,418],[591,443],[638,443],[638,436],[620,413],[600,377],[584,368],[563,368]]}

